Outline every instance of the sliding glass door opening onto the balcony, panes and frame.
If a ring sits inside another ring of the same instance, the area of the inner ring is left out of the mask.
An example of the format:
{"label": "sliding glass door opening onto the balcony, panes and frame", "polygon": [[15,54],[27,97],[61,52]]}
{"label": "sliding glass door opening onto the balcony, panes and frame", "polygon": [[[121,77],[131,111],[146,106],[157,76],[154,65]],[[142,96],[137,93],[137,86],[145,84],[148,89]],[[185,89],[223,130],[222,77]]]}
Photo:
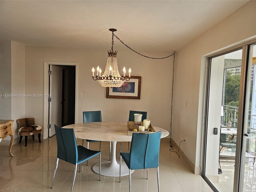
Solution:
{"label": "sliding glass door opening onto the balcony, panes and frame", "polygon": [[256,44],[209,58],[203,177],[219,192],[256,192]]}

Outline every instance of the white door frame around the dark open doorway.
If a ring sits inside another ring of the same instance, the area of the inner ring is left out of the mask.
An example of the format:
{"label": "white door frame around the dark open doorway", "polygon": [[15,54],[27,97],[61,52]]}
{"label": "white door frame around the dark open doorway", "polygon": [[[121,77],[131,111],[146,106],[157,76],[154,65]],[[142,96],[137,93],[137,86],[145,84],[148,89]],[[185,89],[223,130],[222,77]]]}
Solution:
{"label": "white door frame around the dark open doorway", "polygon": [[[76,66],[76,91],[75,91],[75,123],[78,121],[78,62],[56,62],[44,61],[44,95],[49,94],[49,65],[71,65]],[[49,105],[48,97],[44,97],[44,113],[43,113],[43,139],[48,138],[48,121],[49,121]]]}

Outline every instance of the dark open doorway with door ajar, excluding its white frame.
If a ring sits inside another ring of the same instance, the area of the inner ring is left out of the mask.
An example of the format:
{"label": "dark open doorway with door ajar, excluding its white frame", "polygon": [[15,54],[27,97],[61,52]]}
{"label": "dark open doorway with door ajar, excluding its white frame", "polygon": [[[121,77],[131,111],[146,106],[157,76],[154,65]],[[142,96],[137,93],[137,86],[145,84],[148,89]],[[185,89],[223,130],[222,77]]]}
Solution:
{"label": "dark open doorway with door ajar, excluding its white frame", "polygon": [[55,134],[54,125],[63,127],[75,123],[76,67],[49,66],[48,137]]}

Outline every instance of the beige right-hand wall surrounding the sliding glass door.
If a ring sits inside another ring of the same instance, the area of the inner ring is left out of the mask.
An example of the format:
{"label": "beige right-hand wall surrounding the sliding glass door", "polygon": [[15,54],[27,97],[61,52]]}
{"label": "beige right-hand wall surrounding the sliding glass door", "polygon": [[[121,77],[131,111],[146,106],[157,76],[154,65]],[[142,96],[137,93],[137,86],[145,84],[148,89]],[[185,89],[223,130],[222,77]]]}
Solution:
{"label": "beige right-hand wall surrounding the sliding glass door", "polygon": [[[174,75],[172,138],[194,166],[200,166],[206,54],[256,37],[256,1],[250,1],[178,50]],[[186,102],[189,106],[186,107]]]}

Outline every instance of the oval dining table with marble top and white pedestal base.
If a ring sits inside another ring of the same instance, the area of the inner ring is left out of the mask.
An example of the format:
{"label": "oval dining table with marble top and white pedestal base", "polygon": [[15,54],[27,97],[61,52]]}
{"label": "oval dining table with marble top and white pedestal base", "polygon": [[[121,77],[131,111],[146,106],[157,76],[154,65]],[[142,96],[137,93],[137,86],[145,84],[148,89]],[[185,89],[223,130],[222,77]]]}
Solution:
{"label": "oval dining table with marble top and white pedestal base", "polygon": [[[116,142],[130,142],[132,136],[128,136],[127,122],[91,122],[78,123],[64,126],[63,128],[73,128],[76,138],[86,140],[112,142],[111,161],[101,162],[101,175],[116,177],[119,176],[119,161],[116,160]],[[161,138],[169,135],[165,129],[154,126],[156,132],[161,131]],[[138,146],[139,147],[139,146]],[[99,163],[92,167],[92,170],[99,174]],[[125,162],[122,162],[121,176],[129,174],[129,169]]]}

